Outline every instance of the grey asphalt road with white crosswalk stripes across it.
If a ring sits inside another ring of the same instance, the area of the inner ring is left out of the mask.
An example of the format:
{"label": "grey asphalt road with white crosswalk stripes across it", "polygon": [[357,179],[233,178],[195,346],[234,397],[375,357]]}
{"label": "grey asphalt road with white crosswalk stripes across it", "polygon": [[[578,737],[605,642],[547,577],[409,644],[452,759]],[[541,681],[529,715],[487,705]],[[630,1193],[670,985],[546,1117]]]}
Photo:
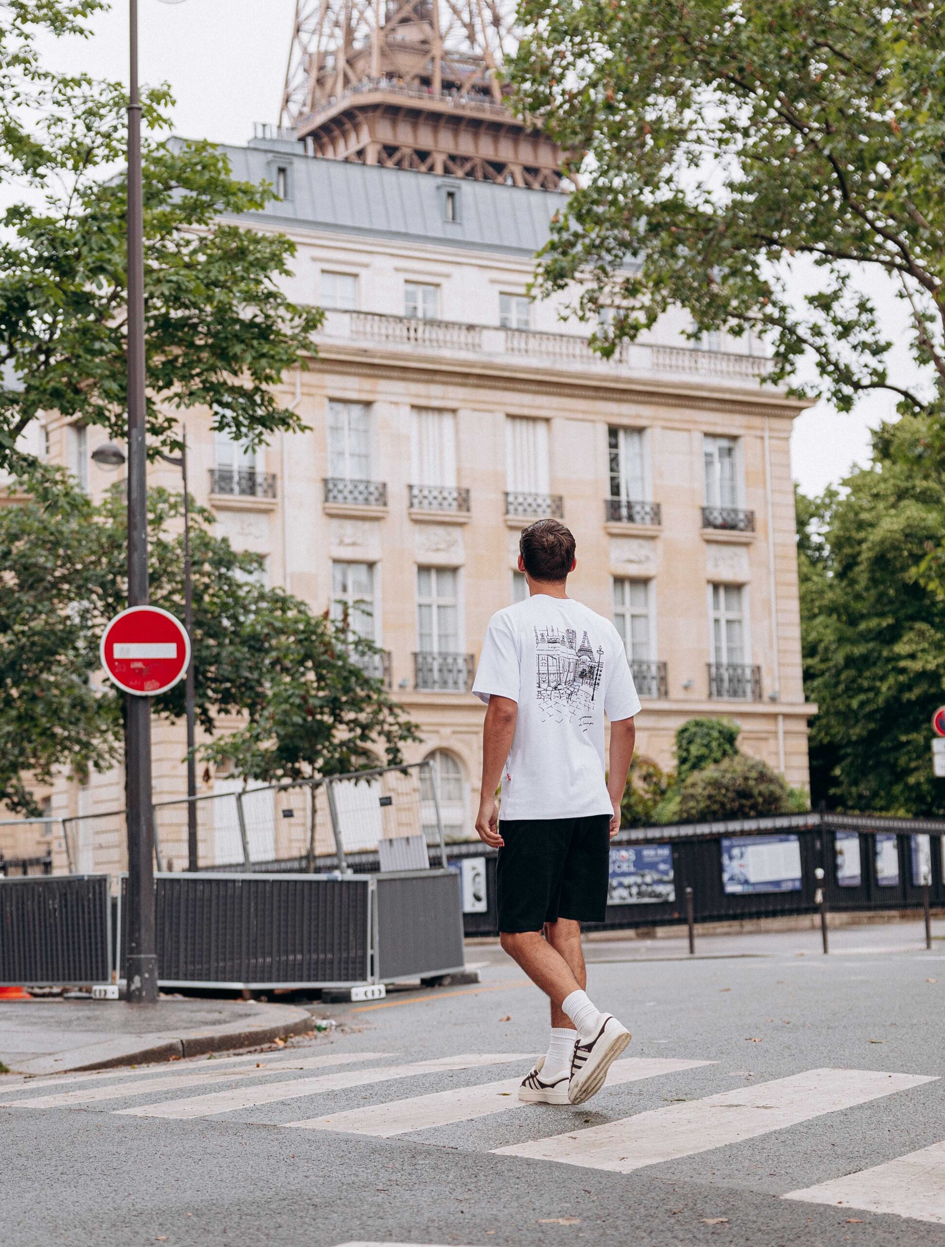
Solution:
{"label": "grey asphalt road with white crosswalk stripes across it", "polygon": [[481,988],[334,1008],[272,1054],[0,1079],[2,1241],[945,1247],[945,949],[914,936],[591,945],[633,1042],[578,1110],[507,1094],[546,1011],[481,948]]}

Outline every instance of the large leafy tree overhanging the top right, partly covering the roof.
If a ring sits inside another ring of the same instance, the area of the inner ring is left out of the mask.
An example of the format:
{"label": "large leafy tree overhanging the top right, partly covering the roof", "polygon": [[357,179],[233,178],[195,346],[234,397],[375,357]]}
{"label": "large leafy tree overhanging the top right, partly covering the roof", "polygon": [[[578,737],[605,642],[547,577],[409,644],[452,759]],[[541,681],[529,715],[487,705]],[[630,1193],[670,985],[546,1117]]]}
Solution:
{"label": "large leafy tree overhanging the top right, partly covering the roof", "polygon": [[[580,173],[539,288],[577,281],[605,354],[683,307],[693,338],[764,338],[773,383],[809,353],[840,410],[873,389],[945,409],[940,4],[524,0],[519,14],[520,107]],[[817,289],[797,306],[799,258]],[[858,266],[904,301],[919,390],[889,375]]]}

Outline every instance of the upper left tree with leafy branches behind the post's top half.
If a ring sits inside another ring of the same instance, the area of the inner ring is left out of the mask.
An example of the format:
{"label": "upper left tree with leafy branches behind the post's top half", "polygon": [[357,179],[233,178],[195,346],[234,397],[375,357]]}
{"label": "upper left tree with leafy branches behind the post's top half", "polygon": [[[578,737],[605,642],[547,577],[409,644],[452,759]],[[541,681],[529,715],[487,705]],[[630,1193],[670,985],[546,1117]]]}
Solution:
{"label": "upper left tree with leafy branches behind the post's top half", "polygon": [[[125,92],[44,71],[35,49],[37,24],[75,32],[98,7],[0,4],[15,17],[0,32],[0,170],[39,197],[0,217],[0,466],[41,413],[125,433]],[[234,221],[272,188],[233,180],[209,143],[161,141],[170,104],[143,92],[148,436],[176,446],[180,412],[208,407],[216,428],[258,443],[300,426],[273,387],[304,365],[322,312],[281,288],[294,243]]]}

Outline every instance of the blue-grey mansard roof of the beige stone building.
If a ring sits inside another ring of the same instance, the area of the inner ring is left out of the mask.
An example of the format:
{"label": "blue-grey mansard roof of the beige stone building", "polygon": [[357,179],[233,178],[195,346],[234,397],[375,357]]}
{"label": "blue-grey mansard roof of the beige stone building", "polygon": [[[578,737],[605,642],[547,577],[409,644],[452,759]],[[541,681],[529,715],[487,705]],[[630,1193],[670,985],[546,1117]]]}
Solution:
{"label": "blue-grey mansard roof of the beige stone building", "polygon": [[[562,206],[551,191],[322,160],[289,142],[253,140],[221,150],[233,176],[249,182],[274,185],[277,168],[288,168],[288,197],[249,213],[272,224],[534,256]],[[446,221],[446,187],[459,193],[458,221]]]}

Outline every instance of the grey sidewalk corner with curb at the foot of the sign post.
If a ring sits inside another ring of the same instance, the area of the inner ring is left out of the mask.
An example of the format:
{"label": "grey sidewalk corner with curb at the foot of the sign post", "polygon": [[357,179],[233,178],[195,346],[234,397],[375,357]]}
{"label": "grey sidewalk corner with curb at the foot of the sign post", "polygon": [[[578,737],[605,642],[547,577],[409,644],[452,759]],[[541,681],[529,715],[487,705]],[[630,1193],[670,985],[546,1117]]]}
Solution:
{"label": "grey sidewalk corner with curb at the foot of the sign post", "polygon": [[0,1061],[16,1074],[103,1070],[271,1044],[313,1029],[294,1005],[246,1000],[29,1000],[0,1004]]}

